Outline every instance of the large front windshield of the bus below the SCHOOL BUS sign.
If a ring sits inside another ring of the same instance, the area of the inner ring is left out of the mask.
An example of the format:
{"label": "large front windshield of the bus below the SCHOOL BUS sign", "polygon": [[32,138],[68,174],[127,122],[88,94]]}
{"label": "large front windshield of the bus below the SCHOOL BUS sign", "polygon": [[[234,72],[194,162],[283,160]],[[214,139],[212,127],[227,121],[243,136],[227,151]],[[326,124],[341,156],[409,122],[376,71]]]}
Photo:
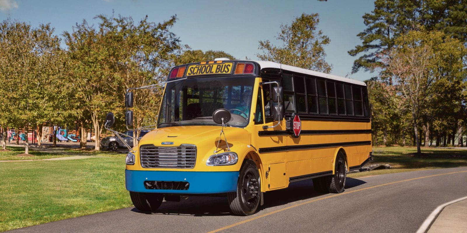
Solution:
{"label": "large front windshield of the bus below the SCHOOL BUS sign", "polygon": [[226,77],[167,83],[157,127],[218,125],[212,121],[218,109],[230,111],[230,126],[245,127],[254,82],[255,77]]}

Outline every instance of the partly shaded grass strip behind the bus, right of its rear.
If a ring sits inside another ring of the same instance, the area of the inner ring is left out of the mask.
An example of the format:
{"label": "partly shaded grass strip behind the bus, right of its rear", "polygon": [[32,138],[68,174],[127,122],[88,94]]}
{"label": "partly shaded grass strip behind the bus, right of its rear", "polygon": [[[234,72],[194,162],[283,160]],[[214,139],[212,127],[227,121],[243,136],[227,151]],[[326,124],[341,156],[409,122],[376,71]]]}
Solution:
{"label": "partly shaded grass strip behind the bus, right of its rear", "polygon": [[467,150],[423,148],[422,154],[416,155],[416,147],[374,147],[373,160],[368,164],[389,164],[391,169],[364,171],[348,174],[358,178],[387,173],[417,171],[467,166]]}

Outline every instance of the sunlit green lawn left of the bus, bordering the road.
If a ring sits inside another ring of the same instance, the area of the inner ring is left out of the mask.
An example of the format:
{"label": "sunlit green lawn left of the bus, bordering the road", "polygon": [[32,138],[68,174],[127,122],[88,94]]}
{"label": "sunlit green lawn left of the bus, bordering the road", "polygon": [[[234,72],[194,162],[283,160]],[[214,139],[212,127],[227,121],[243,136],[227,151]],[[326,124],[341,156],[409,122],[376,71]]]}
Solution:
{"label": "sunlit green lawn left of the bus, bordering the road", "polygon": [[125,155],[0,163],[0,232],[131,206]]}

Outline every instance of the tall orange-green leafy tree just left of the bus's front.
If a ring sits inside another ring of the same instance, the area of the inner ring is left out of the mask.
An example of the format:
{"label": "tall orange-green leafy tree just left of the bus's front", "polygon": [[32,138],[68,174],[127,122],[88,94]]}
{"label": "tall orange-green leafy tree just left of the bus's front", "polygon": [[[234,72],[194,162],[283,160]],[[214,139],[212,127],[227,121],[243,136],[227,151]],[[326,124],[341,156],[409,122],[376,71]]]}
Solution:
{"label": "tall orange-green leafy tree just left of the bus's front", "polygon": [[[105,114],[111,110],[122,112],[126,89],[160,82],[168,73],[169,58],[180,46],[179,39],[170,32],[175,16],[159,24],[149,22],[147,17],[138,24],[120,15],[96,18],[101,21],[99,30],[83,21],[64,36],[72,76],[78,80],[79,115],[89,113],[96,135],[95,149],[99,150]],[[136,127],[155,118],[160,96],[154,90],[135,92]],[[80,125],[84,125],[83,120]]]}

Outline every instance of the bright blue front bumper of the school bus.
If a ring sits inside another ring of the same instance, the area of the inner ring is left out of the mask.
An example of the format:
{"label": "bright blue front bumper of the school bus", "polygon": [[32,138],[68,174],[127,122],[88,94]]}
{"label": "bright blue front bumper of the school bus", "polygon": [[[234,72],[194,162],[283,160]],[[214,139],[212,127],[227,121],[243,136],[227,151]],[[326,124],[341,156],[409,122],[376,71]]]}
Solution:
{"label": "bright blue front bumper of the school bus", "polygon": [[[208,194],[235,192],[238,171],[135,171],[125,170],[125,186],[132,192]],[[188,190],[146,189],[144,181],[186,181]]]}

